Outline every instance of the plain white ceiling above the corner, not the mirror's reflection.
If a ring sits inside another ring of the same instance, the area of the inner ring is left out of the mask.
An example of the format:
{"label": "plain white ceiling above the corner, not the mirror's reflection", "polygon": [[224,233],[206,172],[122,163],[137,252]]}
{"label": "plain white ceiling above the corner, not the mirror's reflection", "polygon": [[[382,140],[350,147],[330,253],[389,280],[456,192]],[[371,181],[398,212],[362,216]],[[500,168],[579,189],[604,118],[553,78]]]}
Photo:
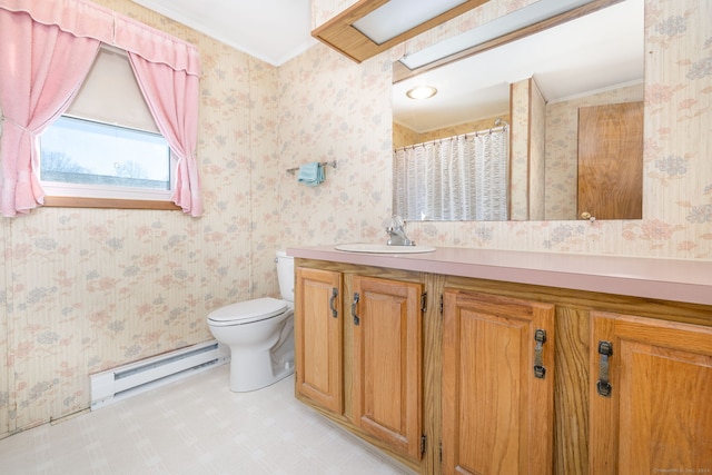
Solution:
{"label": "plain white ceiling above the corner, not the mirror's reflection", "polygon": [[274,66],[317,42],[310,0],[132,1]]}

